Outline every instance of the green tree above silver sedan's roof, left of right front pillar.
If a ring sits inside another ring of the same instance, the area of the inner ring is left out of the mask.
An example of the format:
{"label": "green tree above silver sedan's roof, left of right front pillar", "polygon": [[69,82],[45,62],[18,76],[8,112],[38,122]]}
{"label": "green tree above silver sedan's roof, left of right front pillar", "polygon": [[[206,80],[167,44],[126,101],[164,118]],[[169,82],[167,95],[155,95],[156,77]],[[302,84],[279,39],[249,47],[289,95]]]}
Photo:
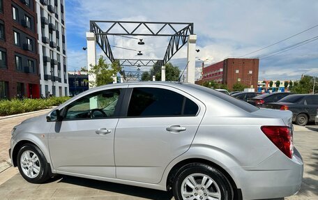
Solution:
{"label": "green tree above silver sedan's roof, left of right front pillar", "polygon": [[[150,70],[150,77],[152,79],[152,76],[156,75],[156,81],[161,80],[161,66],[159,63],[155,63],[153,65],[153,68]],[[165,64],[165,79],[168,82],[177,82],[179,81],[179,76],[180,76],[180,70],[178,66],[173,66],[172,63],[166,63]]]}

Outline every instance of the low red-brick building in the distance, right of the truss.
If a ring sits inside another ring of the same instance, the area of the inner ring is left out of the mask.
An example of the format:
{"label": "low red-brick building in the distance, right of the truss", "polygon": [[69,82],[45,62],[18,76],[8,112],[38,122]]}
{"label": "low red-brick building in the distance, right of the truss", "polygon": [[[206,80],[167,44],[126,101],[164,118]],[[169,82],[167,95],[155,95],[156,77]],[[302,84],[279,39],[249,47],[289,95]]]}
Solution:
{"label": "low red-brick building in the distance, right of the truss", "polygon": [[258,73],[259,59],[225,59],[203,68],[200,83],[214,80],[232,89],[236,82],[241,82],[257,89]]}

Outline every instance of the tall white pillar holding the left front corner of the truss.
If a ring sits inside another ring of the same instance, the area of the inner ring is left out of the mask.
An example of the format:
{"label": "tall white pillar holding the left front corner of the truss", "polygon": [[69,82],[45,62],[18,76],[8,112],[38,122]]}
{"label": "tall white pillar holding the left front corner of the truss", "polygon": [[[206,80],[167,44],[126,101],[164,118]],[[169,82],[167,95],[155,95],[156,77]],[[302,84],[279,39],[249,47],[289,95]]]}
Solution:
{"label": "tall white pillar holding the left front corner of the truss", "polygon": [[[95,33],[86,32],[86,40],[87,40],[87,68],[91,70],[91,65],[96,66],[96,36]],[[89,82],[94,81],[95,76],[89,75]],[[93,86],[89,84],[89,88],[91,89]]]}

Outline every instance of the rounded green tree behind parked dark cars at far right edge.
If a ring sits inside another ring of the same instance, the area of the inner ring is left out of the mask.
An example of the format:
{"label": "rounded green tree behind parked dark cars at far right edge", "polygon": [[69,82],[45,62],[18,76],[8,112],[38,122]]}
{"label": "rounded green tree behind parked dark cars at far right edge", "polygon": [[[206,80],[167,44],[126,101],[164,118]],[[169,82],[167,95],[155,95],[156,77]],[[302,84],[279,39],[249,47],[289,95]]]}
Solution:
{"label": "rounded green tree behind parked dark cars at far right edge", "polygon": [[[317,78],[316,78],[317,82]],[[312,93],[312,89],[314,86],[314,77],[304,75],[298,82],[294,82],[294,86],[292,87],[293,93],[300,93],[300,94],[306,94],[306,93]],[[318,89],[315,87],[314,93],[317,93]]]}

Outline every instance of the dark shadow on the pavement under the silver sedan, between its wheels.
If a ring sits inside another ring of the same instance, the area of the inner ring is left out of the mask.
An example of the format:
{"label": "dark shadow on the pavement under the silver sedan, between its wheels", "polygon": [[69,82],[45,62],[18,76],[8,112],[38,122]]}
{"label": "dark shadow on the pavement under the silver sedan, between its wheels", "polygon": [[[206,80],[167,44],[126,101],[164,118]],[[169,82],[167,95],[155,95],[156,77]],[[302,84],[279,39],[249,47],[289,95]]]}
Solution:
{"label": "dark shadow on the pavement under the silver sedan, between its wheels", "polygon": [[82,187],[89,187],[107,192],[116,192],[119,194],[126,194],[132,197],[140,197],[144,199],[170,200],[173,197],[172,192],[153,190],[149,188],[137,187],[132,185],[123,185],[119,183],[110,183],[106,181],[93,180],[88,178],[79,178],[75,176],[59,175],[55,178],[52,178],[51,181],[54,180],[58,180],[57,183],[79,185]]}

